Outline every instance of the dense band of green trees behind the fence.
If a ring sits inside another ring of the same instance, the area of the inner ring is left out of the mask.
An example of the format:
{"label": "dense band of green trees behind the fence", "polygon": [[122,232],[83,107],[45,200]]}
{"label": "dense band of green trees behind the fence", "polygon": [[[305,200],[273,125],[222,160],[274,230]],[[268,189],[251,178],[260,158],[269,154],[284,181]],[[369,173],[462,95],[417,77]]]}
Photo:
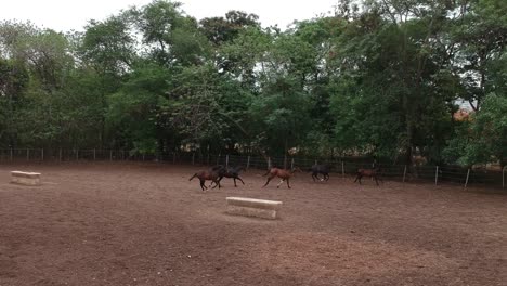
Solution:
{"label": "dense band of green trees behind the fence", "polygon": [[238,11],[197,22],[166,0],[83,32],[5,21],[0,148],[505,165],[506,42],[504,0],[341,0],[285,31]]}

